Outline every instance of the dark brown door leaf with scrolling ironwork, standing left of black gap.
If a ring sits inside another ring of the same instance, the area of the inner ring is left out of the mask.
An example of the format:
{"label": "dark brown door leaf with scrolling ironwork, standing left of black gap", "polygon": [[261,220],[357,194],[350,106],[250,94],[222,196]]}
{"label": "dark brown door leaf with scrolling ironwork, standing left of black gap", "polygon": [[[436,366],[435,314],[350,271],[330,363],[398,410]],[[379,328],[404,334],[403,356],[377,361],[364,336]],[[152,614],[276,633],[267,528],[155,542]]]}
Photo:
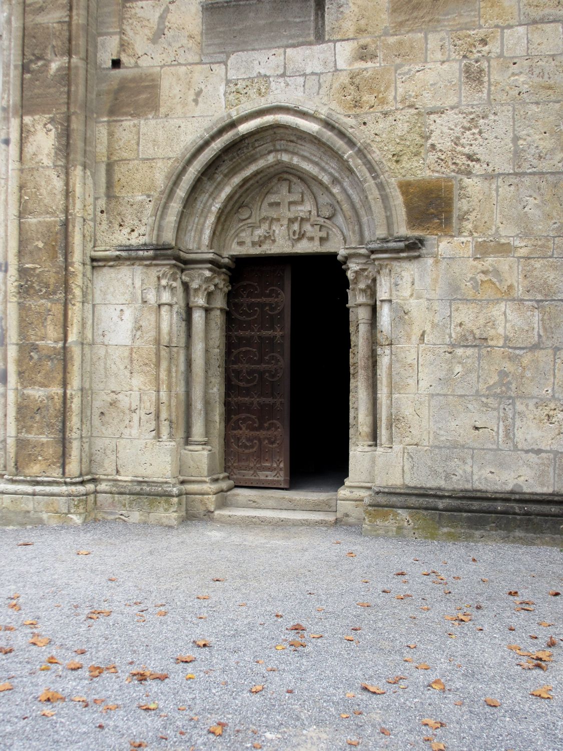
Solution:
{"label": "dark brown door leaf with scrolling ironwork, standing left of black gap", "polygon": [[241,260],[230,283],[225,472],[236,485],[289,487],[291,267]]}

